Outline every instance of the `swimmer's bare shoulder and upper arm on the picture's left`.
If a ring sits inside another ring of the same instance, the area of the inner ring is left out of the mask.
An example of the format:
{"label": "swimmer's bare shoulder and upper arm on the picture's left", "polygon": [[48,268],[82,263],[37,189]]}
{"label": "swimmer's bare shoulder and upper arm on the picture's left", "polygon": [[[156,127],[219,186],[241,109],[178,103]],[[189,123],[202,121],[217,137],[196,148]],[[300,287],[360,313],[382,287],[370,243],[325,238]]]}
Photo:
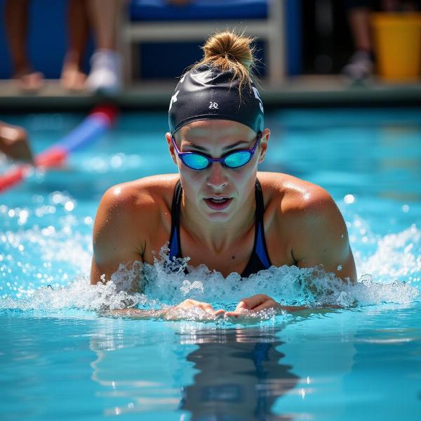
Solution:
{"label": "swimmer's bare shoulder and upper arm on the picture's left", "polygon": [[93,227],[91,283],[102,276],[110,279],[121,264],[145,261],[156,232],[168,229],[177,180],[178,175],[159,175],[115,185],[105,192]]}

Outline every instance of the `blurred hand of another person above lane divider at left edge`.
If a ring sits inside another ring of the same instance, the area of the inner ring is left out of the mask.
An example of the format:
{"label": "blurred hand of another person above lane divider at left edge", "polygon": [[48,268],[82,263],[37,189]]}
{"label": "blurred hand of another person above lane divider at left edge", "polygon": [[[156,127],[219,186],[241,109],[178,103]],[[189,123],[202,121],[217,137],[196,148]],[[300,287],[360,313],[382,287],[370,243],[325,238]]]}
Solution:
{"label": "blurred hand of another person above lane divider at left edge", "polygon": [[0,151],[11,159],[34,163],[26,131],[0,121]]}

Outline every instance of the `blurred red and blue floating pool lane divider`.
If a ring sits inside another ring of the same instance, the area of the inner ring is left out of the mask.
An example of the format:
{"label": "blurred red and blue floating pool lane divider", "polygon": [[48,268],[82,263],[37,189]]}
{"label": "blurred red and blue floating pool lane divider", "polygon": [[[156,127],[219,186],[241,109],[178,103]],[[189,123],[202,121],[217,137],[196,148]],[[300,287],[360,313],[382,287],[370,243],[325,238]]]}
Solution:
{"label": "blurred red and blue floating pool lane divider", "polygon": [[54,168],[60,166],[69,154],[97,140],[102,133],[112,126],[117,109],[112,105],[100,105],[68,135],[35,156],[35,165],[21,164],[0,175],[0,193],[18,185],[34,168]]}

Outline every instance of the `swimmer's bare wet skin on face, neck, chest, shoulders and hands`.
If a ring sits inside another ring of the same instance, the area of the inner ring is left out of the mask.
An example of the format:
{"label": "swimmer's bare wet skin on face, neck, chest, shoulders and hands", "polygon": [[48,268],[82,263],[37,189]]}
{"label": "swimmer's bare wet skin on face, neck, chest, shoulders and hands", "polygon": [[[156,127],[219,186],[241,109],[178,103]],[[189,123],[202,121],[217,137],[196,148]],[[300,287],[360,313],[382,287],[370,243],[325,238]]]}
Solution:
{"label": "swimmer's bare wet skin on face, neck, chest, shoulders and hands", "polygon": [[[153,253],[158,253],[170,238],[171,202],[179,179],[183,188],[182,255],[189,256],[189,265],[204,264],[224,276],[243,272],[255,236],[256,177],[262,185],[265,239],[272,265],[323,265],[326,272],[344,281],[356,281],[347,227],[328,192],[291,175],[258,173],[269,135],[268,129],[262,132],[253,158],[241,168],[213,163],[195,171],[180,161],[171,134],[166,133],[179,174],[126,182],[105,193],[93,229],[91,283],[100,281],[102,274],[109,280],[121,263],[130,267],[135,261],[154,262]],[[175,133],[181,152],[199,152],[213,158],[250,149],[255,139],[256,133],[248,126],[227,120],[194,121]],[[281,309],[269,296],[256,293],[241,300],[234,312],[215,310],[195,300],[185,300],[177,307],[201,307],[215,316],[233,317],[245,311]]]}

